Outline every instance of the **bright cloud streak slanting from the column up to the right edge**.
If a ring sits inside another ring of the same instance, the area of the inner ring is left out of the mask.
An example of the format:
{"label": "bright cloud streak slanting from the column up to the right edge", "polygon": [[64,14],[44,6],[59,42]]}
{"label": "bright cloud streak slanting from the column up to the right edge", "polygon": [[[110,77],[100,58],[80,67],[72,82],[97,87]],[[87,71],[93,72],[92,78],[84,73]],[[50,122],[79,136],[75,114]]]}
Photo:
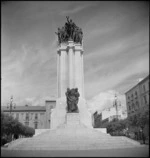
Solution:
{"label": "bright cloud streak slanting from the column up to the right edge", "polygon": [[[139,56],[136,61],[129,62],[123,67],[112,69],[112,64],[106,64],[107,67],[100,72],[91,70],[85,74],[85,93],[87,99],[96,95],[100,91],[115,89],[119,84],[125,82],[129,77],[140,72],[149,72],[149,59],[147,56]],[[111,71],[112,69],[112,71]],[[116,69],[116,70],[115,70]],[[98,70],[98,69],[97,69]],[[88,80],[86,80],[88,78]]]}

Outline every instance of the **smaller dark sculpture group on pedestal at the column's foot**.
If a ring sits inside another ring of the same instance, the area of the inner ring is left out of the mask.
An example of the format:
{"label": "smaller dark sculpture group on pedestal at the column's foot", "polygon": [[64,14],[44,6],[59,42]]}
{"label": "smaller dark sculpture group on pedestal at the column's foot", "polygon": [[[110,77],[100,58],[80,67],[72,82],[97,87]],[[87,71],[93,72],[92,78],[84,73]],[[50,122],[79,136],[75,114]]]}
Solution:
{"label": "smaller dark sculpture group on pedestal at the column's foot", "polygon": [[78,88],[67,88],[67,92],[66,92],[66,99],[67,99],[67,112],[68,113],[78,113],[78,101],[79,101],[79,92],[78,92]]}

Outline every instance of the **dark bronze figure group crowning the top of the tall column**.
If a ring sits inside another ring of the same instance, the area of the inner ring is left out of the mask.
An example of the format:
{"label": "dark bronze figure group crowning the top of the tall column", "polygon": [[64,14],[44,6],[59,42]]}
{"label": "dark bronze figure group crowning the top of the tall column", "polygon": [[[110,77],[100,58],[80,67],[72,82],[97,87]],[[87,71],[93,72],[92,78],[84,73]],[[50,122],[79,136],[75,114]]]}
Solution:
{"label": "dark bronze figure group crowning the top of the tall column", "polygon": [[61,29],[58,28],[58,32],[55,32],[58,35],[59,44],[65,43],[68,40],[73,40],[75,43],[82,44],[82,29],[76,26],[72,19],[69,20],[69,16],[66,16],[66,18],[67,22],[65,23],[65,26],[63,26]]}

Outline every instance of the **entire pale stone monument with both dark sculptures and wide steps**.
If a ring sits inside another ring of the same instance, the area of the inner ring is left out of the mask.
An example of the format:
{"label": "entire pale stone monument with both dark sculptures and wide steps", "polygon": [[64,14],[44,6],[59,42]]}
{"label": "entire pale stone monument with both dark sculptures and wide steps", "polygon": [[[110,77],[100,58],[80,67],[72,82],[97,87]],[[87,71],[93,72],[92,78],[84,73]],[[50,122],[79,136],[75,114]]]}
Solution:
{"label": "entire pale stone monument with both dark sculptures and wide steps", "polygon": [[[32,138],[10,143],[8,150],[100,150],[139,147],[129,138],[111,136],[106,129],[93,128],[84,98],[83,33],[69,17],[58,28],[56,107],[50,129]],[[47,114],[48,115],[48,114]],[[106,150],[107,152],[108,150]],[[44,152],[43,152],[44,153]]]}

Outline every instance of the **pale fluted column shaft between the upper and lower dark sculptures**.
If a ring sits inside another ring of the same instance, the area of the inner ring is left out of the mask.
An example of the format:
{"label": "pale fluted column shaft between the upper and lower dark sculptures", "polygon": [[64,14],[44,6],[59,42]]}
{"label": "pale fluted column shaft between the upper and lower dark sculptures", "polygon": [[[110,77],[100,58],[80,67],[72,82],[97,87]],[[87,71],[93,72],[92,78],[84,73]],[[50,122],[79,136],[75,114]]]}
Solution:
{"label": "pale fluted column shaft between the upper and lower dark sculptures", "polygon": [[68,41],[57,51],[57,91],[58,98],[65,97],[67,88],[78,88],[84,98],[83,47]]}

